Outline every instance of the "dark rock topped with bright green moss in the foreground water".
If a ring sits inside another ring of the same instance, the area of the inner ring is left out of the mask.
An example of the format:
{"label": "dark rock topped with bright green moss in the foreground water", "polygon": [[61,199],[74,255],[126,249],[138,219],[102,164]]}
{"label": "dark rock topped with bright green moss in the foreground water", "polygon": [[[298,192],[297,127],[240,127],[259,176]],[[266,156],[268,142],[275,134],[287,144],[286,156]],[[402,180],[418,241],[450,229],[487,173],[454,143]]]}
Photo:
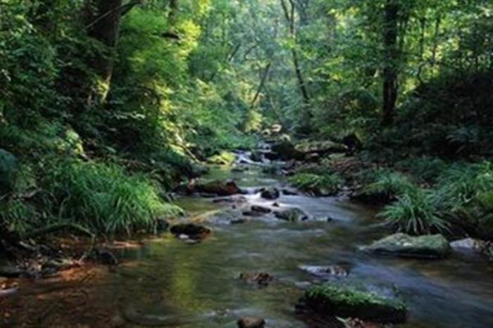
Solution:
{"label": "dark rock topped with bright green moss in the foreground water", "polygon": [[372,322],[401,323],[406,321],[407,315],[406,305],[400,301],[332,284],[311,287],[302,302],[316,313],[330,317],[358,317]]}

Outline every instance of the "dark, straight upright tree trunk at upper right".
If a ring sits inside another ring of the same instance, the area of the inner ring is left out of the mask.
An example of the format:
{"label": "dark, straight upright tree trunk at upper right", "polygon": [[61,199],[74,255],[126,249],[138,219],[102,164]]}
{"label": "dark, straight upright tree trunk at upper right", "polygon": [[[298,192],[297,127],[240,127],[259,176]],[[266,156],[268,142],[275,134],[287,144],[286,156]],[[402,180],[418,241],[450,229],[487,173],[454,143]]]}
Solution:
{"label": "dark, straight upright tree trunk at upper right", "polygon": [[399,51],[397,47],[397,28],[399,23],[399,5],[397,0],[387,0],[385,4],[385,68],[383,72],[383,108],[382,123],[391,125],[394,121],[397,94],[399,91],[398,70]]}

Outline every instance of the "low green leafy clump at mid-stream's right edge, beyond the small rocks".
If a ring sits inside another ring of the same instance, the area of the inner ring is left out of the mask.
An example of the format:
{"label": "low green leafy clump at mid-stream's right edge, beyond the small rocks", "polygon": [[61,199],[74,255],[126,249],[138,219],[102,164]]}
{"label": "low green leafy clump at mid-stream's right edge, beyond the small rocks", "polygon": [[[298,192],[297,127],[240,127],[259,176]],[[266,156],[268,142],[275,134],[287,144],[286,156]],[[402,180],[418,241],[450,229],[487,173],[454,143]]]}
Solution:
{"label": "low green leafy clump at mid-stream's right edge, beyond the small rocks", "polygon": [[337,174],[315,175],[299,173],[289,178],[289,182],[301,191],[316,196],[331,196],[337,194],[344,180]]}

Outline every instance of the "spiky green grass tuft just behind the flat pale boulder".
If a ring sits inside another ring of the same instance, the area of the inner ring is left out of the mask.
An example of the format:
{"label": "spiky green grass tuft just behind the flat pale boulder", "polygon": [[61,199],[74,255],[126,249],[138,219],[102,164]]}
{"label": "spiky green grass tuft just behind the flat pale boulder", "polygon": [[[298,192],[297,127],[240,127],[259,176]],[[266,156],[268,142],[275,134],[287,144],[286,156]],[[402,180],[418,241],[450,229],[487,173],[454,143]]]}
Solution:
{"label": "spiky green grass tuft just behind the flat pale boulder", "polygon": [[416,189],[398,196],[397,201],[385,206],[379,216],[392,229],[406,234],[431,234],[449,229],[449,223],[437,212],[432,191],[425,189]]}

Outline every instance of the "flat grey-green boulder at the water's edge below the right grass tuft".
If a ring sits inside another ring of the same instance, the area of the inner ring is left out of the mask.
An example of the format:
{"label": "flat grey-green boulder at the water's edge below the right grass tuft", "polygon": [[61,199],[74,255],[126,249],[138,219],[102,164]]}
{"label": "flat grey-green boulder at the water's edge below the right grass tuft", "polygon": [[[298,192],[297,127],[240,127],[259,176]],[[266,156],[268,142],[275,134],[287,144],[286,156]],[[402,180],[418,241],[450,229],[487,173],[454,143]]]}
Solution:
{"label": "flat grey-green boulder at the water's edge below the right grass tuft", "polygon": [[450,253],[449,241],[441,234],[409,236],[392,234],[375,241],[362,251],[411,258],[445,258]]}

